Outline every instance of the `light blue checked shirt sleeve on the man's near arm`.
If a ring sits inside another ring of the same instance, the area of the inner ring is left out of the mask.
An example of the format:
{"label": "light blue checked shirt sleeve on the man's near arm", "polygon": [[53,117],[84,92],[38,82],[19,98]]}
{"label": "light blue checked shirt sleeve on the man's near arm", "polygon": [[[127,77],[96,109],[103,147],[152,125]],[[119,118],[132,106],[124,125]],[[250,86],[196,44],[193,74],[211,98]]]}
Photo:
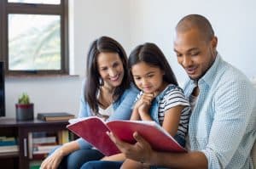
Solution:
{"label": "light blue checked shirt sleeve on the man's near arm", "polygon": [[255,104],[253,95],[255,90],[245,81],[224,82],[218,88],[212,102],[215,114],[209,140],[206,149],[202,150],[207,157],[208,168],[226,168],[231,163],[241,164],[240,161],[231,161],[241,146],[239,158],[246,161],[250,153],[250,144],[247,142],[252,140],[246,138],[251,134],[246,130],[247,127],[253,128],[250,124]]}

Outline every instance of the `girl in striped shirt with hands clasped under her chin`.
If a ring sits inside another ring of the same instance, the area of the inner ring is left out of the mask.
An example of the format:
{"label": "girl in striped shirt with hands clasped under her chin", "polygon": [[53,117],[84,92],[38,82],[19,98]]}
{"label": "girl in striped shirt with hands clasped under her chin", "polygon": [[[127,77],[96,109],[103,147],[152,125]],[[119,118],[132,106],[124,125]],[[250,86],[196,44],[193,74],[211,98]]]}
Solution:
{"label": "girl in striped shirt with hands clasped under her chin", "polygon": [[[148,42],[137,46],[131,52],[128,62],[133,81],[141,89],[131,120],[156,121],[184,146],[189,124],[189,101],[177,86],[176,77],[165,55],[154,43]],[[125,156],[122,155],[105,157],[103,161],[90,161],[82,169],[114,169],[120,166],[122,169],[137,169],[148,166],[130,159],[123,163],[120,158],[124,160]]]}

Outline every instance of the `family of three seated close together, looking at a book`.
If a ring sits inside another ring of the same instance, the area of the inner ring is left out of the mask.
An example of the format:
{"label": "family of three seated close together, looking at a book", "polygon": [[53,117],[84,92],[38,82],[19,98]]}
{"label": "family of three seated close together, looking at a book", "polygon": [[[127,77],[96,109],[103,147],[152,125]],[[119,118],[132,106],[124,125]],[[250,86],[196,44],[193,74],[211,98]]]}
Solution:
{"label": "family of three seated close together, looking at a book", "polygon": [[154,43],[137,46],[127,60],[119,42],[96,39],[87,55],[79,117],[155,121],[188,151],[153,149],[137,131],[136,143],[127,143],[110,131],[121,153],[104,156],[79,138],[55,149],[41,168],[253,168],[256,91],[222,59],[217,44],[204,16],[189,14],[177,23],[174,51],[189,76],[181,89]]}

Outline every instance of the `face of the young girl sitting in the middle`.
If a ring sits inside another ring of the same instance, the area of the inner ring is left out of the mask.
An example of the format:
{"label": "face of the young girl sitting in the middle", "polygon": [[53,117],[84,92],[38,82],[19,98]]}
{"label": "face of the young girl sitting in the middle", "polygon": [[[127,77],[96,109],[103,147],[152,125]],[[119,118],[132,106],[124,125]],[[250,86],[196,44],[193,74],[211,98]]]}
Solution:
{"label": "face of the young girl sitting in the middle", "polygon": [[159,67],[139,62],[131,67],[135,84],[144,93],[160,92],[165,87],[163,82],[164,72]]}

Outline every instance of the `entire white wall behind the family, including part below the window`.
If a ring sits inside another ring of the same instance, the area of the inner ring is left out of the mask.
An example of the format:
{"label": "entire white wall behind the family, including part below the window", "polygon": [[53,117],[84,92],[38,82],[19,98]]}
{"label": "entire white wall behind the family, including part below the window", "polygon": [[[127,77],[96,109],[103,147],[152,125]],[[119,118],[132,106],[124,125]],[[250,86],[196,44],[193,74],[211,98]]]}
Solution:
{"label": "entire white wall behind the family, including part below the window", "polygon": [[[203,14],[218,36],[218,51],[249,78],[256,76],[256,12],[253,0],[70,0],[71,73],[79,77],[7,78],[6,112],[15,117],[22,92],[31,96],[38,112],[67,111],[77,115],[81,81],[89,44],[108,35],[131,52],[137,44],[156,42],[169,59],[178,81],[186,75],[172,52],[177,21],[186,14]],[[184,5],[185,4],[185,5]]]}

